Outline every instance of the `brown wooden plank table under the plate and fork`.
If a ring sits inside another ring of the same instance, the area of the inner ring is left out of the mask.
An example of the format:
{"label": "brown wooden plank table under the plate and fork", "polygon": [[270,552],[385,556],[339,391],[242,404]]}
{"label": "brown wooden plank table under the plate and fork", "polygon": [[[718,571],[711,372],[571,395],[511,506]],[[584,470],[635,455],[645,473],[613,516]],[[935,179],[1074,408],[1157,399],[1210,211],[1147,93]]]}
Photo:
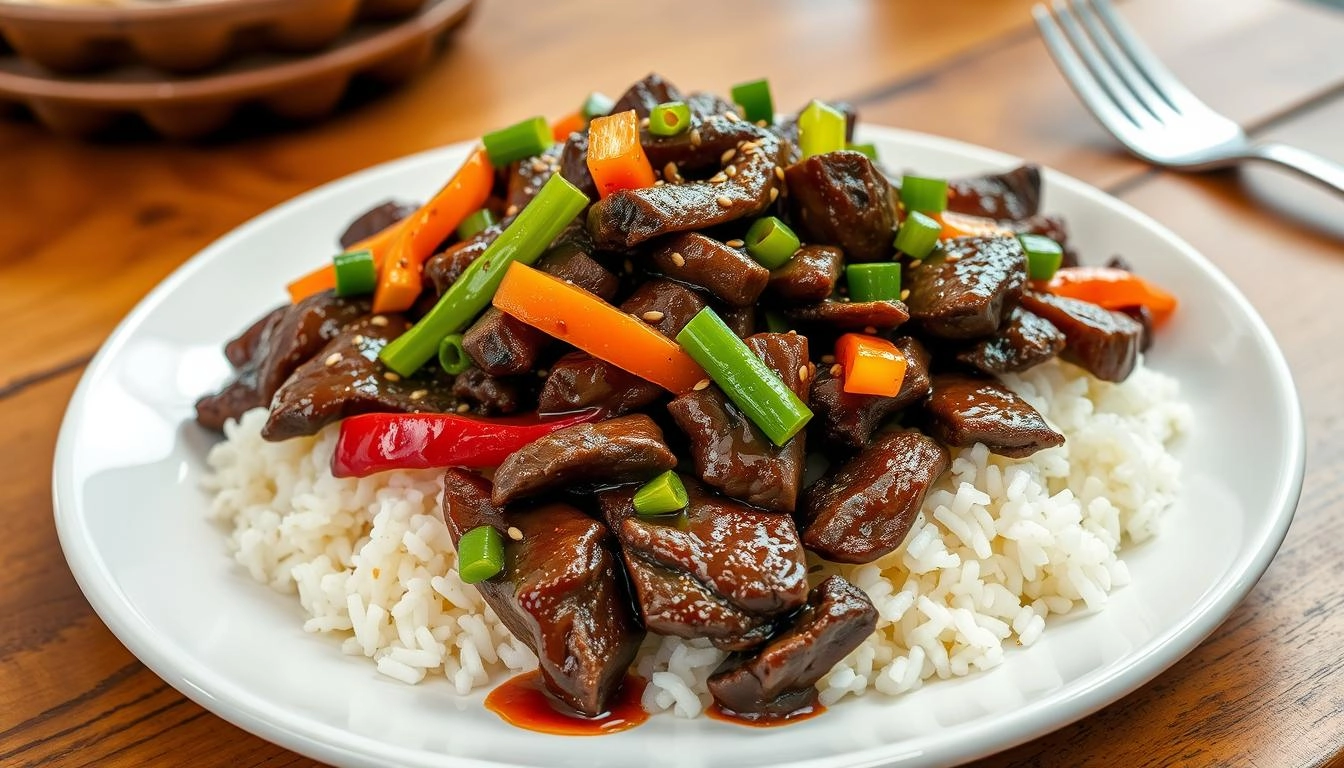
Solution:
{"label": "brown wooden plank table under the plate and fork", "polygon": [[[870,121],[1036,159],[1152,214],[1236,282],[1288,355],[1308,421],[1288,541],[1184,660],[982,765],[1344,765],[1344,200],[1274,171],[1181,176],[1126,156],[1054,70],[1030,4],[759,0],[688,12],[482,0],[425,77],[323,125],[89,145],[0,122],[0,316],[11,328],[0,362],[0,764],[312,764],[168,687],[85,603],[51,518],[51,455],[71,390],[146,291],[247,218],[659,70],[715,90],[765,74],[785,108],[847,98]],[[1122,9],[1254,136],[1344,160],[1344,12],[1286,0]]]}

